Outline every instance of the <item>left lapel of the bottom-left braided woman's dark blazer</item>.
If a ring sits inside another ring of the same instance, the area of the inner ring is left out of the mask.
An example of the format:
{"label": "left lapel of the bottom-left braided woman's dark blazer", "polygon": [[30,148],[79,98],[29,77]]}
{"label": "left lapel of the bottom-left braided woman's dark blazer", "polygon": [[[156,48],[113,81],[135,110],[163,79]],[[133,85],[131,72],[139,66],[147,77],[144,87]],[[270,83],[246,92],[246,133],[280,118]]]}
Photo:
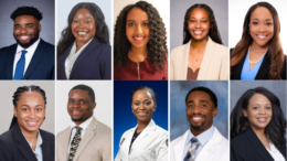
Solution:
{"label": "left lapel of the bottom-left braided woman's dark blazer", "polygon": [[13,138],[17,142],[17,147],[19,152],[28,160],[28,161],[38,161],[35,154],[33,153],[31,147],[28,144],[24,136],[22,135],[18,124],[15,124],[12,129]]}

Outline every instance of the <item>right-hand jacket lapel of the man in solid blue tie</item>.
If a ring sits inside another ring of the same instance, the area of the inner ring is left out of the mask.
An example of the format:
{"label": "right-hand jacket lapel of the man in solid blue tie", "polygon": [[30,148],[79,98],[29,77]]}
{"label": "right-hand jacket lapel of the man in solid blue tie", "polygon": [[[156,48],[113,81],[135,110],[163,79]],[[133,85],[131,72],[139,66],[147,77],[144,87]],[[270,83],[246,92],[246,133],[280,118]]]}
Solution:
{"label": "right-hand jacket lapel of the man in solid blue tie", "polygon": [[32,72],[35,69],[36,65],[40,63],[40,61],[42,60],[42,57],[45,55],[46,51],[45,51],[45,43],[44,41],[41,39],[39,45],[36,46],[36,50],[32,56],[32,60],[25,71],[24,77],[23,79],[28,79],[29,76],[32,74]]}

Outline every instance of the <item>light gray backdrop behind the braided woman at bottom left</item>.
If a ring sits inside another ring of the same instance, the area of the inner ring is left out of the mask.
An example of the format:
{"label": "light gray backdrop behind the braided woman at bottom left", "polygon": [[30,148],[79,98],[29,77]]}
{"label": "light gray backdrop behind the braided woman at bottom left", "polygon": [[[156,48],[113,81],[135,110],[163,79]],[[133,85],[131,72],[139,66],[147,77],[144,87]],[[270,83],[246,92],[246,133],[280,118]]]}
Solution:
{"label": "light gray backdrop behind the braided woman at bottom left", "polygon": [[18,87],[38,85],[46,94],[46,114],[45,120],[41,126],[41,129],[49,132],[55,133],[55,83],[52,80],[1,80],[0,82],[0,101],[1,101],[1,112],[0,112],[0,135],[9,130],[13,111],[12,96]]}

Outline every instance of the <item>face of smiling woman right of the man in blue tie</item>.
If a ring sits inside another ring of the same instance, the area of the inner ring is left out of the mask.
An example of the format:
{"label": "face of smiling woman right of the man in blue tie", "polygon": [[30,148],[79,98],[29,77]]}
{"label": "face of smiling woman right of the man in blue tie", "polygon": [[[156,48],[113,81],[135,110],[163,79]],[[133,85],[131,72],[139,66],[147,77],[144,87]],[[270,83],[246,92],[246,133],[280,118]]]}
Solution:
{"label": "face of smiling woman right of the man in blue tie", "polygon": [[96,20],[87,9],[77,10],[71,30],[77,43],[87,43],[96,34]]}

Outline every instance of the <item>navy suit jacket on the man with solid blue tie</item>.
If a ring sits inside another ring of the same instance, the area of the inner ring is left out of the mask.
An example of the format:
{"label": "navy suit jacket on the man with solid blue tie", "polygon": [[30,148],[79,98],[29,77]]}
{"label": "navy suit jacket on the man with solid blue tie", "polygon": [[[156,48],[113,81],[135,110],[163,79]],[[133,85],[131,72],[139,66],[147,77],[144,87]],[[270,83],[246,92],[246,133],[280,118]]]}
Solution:
{"label": "navy suit jacket on the man with solid blue tie", "polygon": [[[17,45],[0,50],[0,79],[13,79],[13,64]],[[55,47],[42,39],[24,73],[23,79],[54,79]]]}

